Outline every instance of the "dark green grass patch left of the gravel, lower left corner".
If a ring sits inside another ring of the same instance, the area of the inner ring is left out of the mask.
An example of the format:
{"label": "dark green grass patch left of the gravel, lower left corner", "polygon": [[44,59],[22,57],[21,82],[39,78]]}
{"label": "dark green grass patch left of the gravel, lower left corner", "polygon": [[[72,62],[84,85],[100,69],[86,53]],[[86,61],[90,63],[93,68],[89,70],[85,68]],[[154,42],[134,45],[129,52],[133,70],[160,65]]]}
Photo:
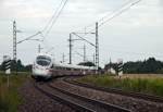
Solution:
{"label": "dark green grass patch left of the gravel, lower left corner", "polygon": [[0,74],[0,112],[17,112],[23,103],[18,87],[27,79],[26,74],[10,75],[10,86],[7,84],[7,75]]}

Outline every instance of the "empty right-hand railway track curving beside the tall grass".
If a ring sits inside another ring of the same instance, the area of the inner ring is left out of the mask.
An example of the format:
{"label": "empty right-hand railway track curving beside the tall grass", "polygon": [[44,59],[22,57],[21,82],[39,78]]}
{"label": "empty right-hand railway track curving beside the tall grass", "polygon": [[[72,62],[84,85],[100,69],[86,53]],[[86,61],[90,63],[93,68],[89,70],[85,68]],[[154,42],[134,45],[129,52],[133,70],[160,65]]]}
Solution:
{"label": "empty right-hand railway track curving beside the tall grass", "polygon": [[106,91],[106,92],[113,92],[113,94],[117,94],[117,95],[122,95],[122,96],[127,96],[127,97],[133,97],[133,98],[143,99],[143,100],[148,100],[148,101],[162,102],[163,103],[163,98],[159,97],[159,96],[131,92],[131,91],[130,92],[129,91],[123,91],[121,89],[115,89],[115,88],[97,87],[97,86],[92,86],[92,85],[88,85],[88,84],[84,84],[84,83],[78,83],[78,82],[74,80],[73,78],[72,79],[71,78],[64,78],[64,82],[66,82],[68,84],[86,87],[86,88],[96,89],[96,90],[102,90],[102,91]]}

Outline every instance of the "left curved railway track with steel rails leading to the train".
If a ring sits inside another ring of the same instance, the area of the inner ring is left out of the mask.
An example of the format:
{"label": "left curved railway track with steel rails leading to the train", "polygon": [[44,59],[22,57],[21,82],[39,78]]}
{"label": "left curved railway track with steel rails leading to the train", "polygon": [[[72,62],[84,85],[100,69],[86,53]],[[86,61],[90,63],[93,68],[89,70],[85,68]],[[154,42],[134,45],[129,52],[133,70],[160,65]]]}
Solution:
{"label": "left curved railway track with steel rails leading to the train", "polygon": [[68,92],[49,83],[35,83],[34,86],[46,96],[66,104],[77,112],[131,112],[130,110],[114,104]]}

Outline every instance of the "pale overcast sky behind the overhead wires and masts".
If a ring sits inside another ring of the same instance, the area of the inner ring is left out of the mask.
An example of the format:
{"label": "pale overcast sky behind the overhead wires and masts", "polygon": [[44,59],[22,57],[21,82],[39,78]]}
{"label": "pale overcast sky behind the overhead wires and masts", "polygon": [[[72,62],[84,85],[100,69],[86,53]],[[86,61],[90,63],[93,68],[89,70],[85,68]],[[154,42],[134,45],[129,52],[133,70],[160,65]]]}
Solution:
{"label": "pale overcast sky behind the overhead wires and masts", "polygon": [[[38,52],[53,48],[50,53],[62,61],[63,53],[68,63],[70,33],[95,29],[96,22],[111,17],[123,4],[136,0],[68,0],[43,42],[24,41],[17,45],[17,59],[24,64],[33,63]],[[17,41],[43,29],[61,0],[0,0],[0,62],[3,55],[12,57],[12,25],[16,21]],[[86,28],[85,28],[86,27]],[[110,59],[126,61],[146,60],[154,57],[163,61],[163,1],[141,0],[121,15],[99,27],[100,65]],[[95,32],[95,30],[92,30]],[[84,36],[80,34],[80,36]],[[95,35],[84,36],[95,43]],[[35,38],[42,38],[40,35]],[[74,39],[77,37],[73,36]],[[87,60],[93,60],[95,48],[84,41],[73,42],[73,63],[83,61],[86,46]]]}

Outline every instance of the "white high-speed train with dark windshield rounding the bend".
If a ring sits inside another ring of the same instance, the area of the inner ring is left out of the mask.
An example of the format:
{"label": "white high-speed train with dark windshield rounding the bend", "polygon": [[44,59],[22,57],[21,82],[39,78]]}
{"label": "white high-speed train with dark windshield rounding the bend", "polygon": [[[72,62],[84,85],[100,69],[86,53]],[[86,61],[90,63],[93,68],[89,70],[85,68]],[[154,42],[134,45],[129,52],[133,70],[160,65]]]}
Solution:
{"label": "white high-speed train with dark windshield rounding the bend", "polygon": [[33,64],[34,78],[51,78],[62,75],[86,75],[93,74],[95,69],[82,65],[72,65],[55,63],[53,57],[46,53],[39,53]]}

